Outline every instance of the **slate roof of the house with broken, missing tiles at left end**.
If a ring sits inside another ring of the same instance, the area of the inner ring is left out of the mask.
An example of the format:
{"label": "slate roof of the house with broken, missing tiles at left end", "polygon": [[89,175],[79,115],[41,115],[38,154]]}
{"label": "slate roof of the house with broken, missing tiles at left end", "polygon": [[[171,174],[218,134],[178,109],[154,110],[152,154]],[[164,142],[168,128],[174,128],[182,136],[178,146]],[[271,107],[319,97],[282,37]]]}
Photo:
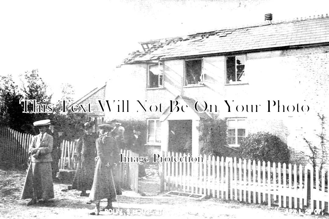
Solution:
{"label": "slate roof of the house with broken, missing tiles at left end", "polygon": [[124,63],[328,42],[329,17],[326,14],[310,19],[262,23],[140,42],[143,51],[129,54]]}

